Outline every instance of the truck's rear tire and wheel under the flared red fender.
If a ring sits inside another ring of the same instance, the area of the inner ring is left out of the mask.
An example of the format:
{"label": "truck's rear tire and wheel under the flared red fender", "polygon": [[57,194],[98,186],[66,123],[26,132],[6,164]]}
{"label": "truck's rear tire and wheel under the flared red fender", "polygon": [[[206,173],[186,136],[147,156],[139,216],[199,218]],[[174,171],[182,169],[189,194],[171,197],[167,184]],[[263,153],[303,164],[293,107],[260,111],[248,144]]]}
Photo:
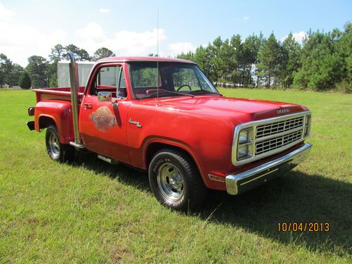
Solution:
{"label": "truck's rear tire and wheel under the flared red fender", "polygon": [[55,125],[49,125],[45,134],[46,151],[54,161],[73,161],[75,148],[69,144],[61,144],[58,137],[58,130]]}

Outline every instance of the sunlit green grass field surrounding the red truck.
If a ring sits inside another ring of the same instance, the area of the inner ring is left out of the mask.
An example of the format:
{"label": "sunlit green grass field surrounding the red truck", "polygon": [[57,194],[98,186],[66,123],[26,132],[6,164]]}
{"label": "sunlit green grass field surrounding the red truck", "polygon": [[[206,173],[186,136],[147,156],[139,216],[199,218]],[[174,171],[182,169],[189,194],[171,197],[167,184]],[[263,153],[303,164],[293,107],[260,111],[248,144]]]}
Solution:
{"label": "sunlit green grass field surrounding the red truck", "polygon": [[[0,263],[351,263],[352,95],[220,89],[301,103],[313,113],[308,161],[241,196],[212,191],[177,213],[143,172],[90,153],[73,164],[30,132],[30,91],[0,91]],[[278,222],[329,222],[329,232],[281,232]]]}

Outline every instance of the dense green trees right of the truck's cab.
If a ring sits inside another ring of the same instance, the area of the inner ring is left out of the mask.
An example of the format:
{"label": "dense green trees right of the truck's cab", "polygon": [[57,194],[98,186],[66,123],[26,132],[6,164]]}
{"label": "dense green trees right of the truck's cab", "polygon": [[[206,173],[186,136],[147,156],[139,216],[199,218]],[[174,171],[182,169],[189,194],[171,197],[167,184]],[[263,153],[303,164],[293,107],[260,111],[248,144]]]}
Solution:
{"label": "dense green trees right of the truck's cab", "polygon": [[225,40],[217,37],[177,58],[198,63],[222,86],[352,92],[351,55],[352,23],[346,23],[343,31],[310,30],[303,44],[291,33],[282,42],[274,33],[268,38],[252,34],[244,41],[239,34]]}

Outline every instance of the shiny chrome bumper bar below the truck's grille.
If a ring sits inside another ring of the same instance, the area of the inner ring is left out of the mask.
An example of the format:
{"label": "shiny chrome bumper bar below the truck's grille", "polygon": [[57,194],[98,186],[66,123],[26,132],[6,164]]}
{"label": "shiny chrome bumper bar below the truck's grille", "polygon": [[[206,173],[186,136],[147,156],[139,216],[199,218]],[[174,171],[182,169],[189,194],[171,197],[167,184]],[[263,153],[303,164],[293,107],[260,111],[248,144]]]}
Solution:
{"label": "shiny chrome bumper bar below the truck's grille", "polygon": [[[256,168],[240,172],[236,175],[227,175],[225,177],[227,193],[232,195],[239,194],[239,187],[249,182],[253,183],[255,182],[255,180],[258,180],[259,178],[264,177],[265,175],[268,175],[272,172],[287,172],[287,169],[281,167],[275,168],[274,170],[271,169],[278,165],[282,165],[283,167],[284,163],[290,163],[291,168],[294,168],[296,165],[302,163],[308,157],[312,146],[313,145],[310,143],[304,144],[304,146],[301,146],[301,148],[287,153],[286,155],[282,156],[281,158],[277,158],[274,161],[269,161],[267,163],[257,166]],[[291,168],[289,168],[289,170],[291,170]],[[263,172],[263,174],[248,181],[245,181],[247,178],[250,178],[253,175],[260,174],[260,172]],[[241,181],[241,183],[239,183],[239,181]]]}

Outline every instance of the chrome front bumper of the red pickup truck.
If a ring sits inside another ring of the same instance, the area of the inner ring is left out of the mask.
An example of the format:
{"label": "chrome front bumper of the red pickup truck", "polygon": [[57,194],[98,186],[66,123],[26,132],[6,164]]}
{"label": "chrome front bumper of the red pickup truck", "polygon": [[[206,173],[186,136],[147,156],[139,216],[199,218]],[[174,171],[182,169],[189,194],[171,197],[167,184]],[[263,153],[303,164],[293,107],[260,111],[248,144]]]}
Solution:
{"label": "chrome front bumper of the red pickup truck", "polygon": [[310,143],[304,144],[299,149],[287,153],[274,161],[269,161],[236,175],[227,175],[225,178],[227,193],[232,195],[241,194],[288,172],[309,156],[312,146]]}

